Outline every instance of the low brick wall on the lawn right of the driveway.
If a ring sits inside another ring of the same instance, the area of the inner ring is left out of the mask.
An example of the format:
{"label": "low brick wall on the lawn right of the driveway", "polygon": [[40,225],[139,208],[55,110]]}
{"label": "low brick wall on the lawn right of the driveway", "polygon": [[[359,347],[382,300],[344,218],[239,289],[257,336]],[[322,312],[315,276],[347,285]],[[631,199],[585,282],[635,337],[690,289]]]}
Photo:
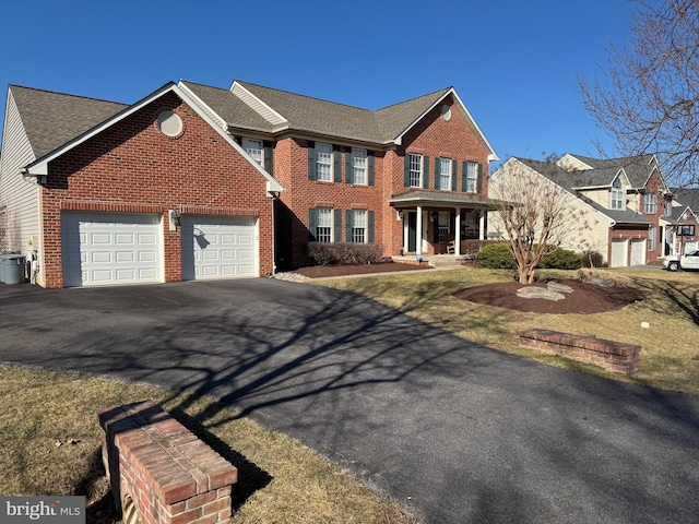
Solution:
{"label": "low brick wall on the lawn right of the driveway", "polygon": [[560,355],[587,364],[594,364],[607,371],[636,377],[641,346],[605,341],[594,335],[571,335],[548,330],[519,332],[520,345],[542,353]]}

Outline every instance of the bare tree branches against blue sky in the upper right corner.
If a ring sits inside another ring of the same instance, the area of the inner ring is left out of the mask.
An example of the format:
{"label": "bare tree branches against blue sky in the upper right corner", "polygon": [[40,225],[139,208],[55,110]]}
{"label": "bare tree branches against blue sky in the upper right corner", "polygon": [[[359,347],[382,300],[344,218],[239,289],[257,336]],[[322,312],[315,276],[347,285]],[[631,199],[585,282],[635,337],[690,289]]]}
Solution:
{"label": "bare tree branches against blue sky in the upper right corner", "polygon": [[629,39],[603,82],[580,80],[588,111],[618,153],[655,153],[673,186],[699,182],[699,2],[637,0]]}

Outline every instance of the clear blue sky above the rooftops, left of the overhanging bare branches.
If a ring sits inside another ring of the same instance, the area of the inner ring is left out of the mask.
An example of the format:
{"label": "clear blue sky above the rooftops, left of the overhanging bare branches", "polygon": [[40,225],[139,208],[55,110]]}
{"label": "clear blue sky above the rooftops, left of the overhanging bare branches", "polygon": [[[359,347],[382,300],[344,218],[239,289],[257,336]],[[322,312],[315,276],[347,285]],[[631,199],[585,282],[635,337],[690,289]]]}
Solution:
{"label": "clear blue sky above the rooftops, left of the overhanging bare branches", "polygon": [[[599,76],[628,0],[3,2],[0,87],[133,103],[234,79],[376,109],[453,85],[500,156],[596,155],[577,79]],[[0,115],[0,119],[3,115]],[[606,141],[609,147],[611,142]]]}

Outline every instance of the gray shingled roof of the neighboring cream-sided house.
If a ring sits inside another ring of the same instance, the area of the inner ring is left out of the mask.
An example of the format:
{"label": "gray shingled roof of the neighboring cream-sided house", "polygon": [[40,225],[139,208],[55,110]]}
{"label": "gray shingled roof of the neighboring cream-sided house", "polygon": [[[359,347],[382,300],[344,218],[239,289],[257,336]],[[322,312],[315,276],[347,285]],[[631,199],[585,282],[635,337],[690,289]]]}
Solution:
{"label": "gray shingled roof of the neighboring cream-sided house", "polygon": [[[577,156],[576,158],[580,158],[580,157]],[[581,191],[577,191],[574,189],[580,187],[604,186],[602,183],[592,183],[592,182],[608,179],[611,172],[615,172],[615,174],[618,172],[618,167],[609,167],[607,165],[607,166],[601,167],[600,169],[587,169],[584,171],[567,171],[566,169],[549,162],[532,160],[530,158],[517,158],[517,159],[520,160],[525,166],[545,176],[554,183],[560,186],[561,188],[565,188],[568,192],[570,192],[576,198],[583,201],[590,207],[593,207],[594,210],[599,211],[603,215],[608,216],[617,224],[651,224],[652,223],[645,216],[639,213],[636,213],[631,210],[624,210],[624,211],[608,210],[597,204],[596,202],[590,200]],[[582,162],[584,162],[585,164],[589,164],[585,160],[582,160]],[[595,176],[593,172],[591,172],[591,171],[597,171],[597,170],[602,171],[601,174],[599,174],[599,176]],[[611,184],[611,182],[607,183],[607,186],[608,184]]]}

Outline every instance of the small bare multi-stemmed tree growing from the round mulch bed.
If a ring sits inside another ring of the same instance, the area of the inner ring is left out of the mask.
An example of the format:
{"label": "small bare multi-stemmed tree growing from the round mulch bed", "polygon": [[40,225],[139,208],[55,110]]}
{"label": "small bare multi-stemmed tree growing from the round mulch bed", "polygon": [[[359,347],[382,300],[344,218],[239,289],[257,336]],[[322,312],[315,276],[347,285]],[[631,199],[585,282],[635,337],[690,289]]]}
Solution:
{"label": "small bare multi-stemmed tree growing from the round mulch bed", "polygon": [[[546,164],[556,169],[553,158]],[[496,199],[488,222],[509,241],[519,282],[532,284],[542,258],[561,245],[585,247],[590,226],[577,199],[519,159],[510,158],[493,175],[488,193]]]}

